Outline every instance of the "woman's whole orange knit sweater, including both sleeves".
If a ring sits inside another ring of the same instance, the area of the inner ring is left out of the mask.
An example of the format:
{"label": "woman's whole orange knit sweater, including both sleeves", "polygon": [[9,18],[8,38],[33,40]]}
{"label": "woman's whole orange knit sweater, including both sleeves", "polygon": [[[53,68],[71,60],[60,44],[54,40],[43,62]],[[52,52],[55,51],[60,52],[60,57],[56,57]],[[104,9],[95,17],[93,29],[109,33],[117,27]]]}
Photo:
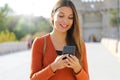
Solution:
{"label": "woman's whole orange knit sweater, including both sleeves", "polygon": [[[83,67],[78,74],[75,74],[70,68],[60,69],[55,73],[52,72],[50,64],[57,57],[57,53],[51,41],[50,35],[46,35],[46,50],[44,58],[42,55],[43,45],[43,37],[36,38],[33,43],[30,80],[89,80],[85,45],[83,45]],[[42,67],[42,65],[44,65],[44,67]]]}

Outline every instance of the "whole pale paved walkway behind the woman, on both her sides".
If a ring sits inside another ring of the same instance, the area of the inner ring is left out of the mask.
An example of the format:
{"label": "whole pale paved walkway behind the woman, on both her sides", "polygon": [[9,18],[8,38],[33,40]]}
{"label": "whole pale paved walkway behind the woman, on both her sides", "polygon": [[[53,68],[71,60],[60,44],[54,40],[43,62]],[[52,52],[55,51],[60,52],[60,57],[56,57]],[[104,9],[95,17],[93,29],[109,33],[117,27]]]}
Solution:
{"label": "whole pale paved walkway behind the woman, on both her sides", "polygon": [[[90,80],[120,80],[120,62],[100,43],[87,43]],[[0,80],[29,80],[30,50],[0,56]]]}

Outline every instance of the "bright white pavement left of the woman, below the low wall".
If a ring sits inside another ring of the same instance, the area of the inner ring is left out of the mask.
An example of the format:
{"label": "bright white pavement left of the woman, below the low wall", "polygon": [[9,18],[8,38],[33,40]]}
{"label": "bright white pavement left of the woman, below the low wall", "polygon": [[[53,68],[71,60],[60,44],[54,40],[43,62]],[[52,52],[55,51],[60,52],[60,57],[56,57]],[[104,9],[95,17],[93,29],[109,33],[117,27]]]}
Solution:
{"label": "bright white pavement left of the woman, below the low wall", "polygon": [[0,56],[0,80],[29,80],[30,50]]}

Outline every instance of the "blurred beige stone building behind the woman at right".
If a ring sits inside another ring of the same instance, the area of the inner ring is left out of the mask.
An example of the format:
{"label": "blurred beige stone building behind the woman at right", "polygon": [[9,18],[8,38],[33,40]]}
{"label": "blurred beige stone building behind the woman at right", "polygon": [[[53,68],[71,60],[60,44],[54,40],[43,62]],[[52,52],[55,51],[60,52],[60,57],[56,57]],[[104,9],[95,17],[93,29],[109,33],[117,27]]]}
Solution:
{"label": "blurred beige stone building behind the woman at right", "polygon": [[78,10],[83,38],[86,42],[103,37],[118,39],[118,27],[110,25],[110,10],[118,8],[118,0],[73,0]]}

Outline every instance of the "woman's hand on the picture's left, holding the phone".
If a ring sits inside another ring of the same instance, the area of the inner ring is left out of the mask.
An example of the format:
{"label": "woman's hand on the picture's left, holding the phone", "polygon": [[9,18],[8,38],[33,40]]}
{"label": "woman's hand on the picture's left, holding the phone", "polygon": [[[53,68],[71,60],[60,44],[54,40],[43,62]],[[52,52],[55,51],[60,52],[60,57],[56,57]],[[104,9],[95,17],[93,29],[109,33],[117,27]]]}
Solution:
{"label": "woman's hand on the picture's left, holding the phone", "polygon": [[65,68],[66,66],[66,61],[63,60],[64,57],[66,57],[66,55],[61,55],[61,56],[57,56],[57,58],[55,59],[55,61],[53,63],[51,63],[51,68],[53,70],[53,72],[55,72],[58,69],[62,69]]}

